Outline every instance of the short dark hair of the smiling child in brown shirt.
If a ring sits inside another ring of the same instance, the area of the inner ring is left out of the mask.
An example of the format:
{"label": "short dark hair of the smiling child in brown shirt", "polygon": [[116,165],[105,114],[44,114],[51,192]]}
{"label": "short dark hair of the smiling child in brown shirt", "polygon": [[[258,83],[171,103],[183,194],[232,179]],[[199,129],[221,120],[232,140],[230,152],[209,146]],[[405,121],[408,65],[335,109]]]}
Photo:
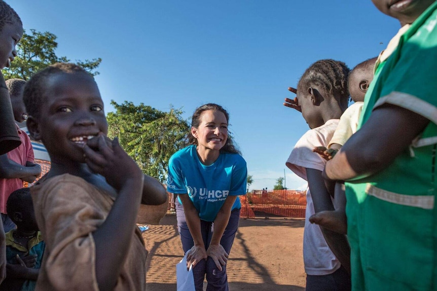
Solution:
{"label": "short dark hair of the smiling child in brown shirt", "polygon": [[[55,74],[86,74],[90,76],[93,80],[92,74],[87,72],[84,68],[73,63],[55,63],[46,67],[45,69],[39,71],[30,77],[27,81],[26,86],[24,86],[23,91],[23,101],[26,106],[27,114],[39,118],[40,108],[44,104],[46,99],[46,89],[47,89],[47,79]],[[95,82],[95,80],[94,80]]]}

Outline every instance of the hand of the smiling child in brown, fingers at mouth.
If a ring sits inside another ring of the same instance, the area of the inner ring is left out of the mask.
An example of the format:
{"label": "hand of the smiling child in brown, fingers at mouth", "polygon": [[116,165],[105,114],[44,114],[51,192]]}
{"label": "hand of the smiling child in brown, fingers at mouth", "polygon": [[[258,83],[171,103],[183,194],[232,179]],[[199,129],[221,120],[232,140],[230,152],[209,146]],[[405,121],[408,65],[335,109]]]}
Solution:
{"label": "hand of the smiling child in brown, fingers at mouth", "polygon": [[117,138],[111,141],[103,134],[99,134],[87,141],[84,146],[84,157],[88,167],[105,177],[108,184],[117,191],[130,179],[143,179],[138,165],[123,150]]}

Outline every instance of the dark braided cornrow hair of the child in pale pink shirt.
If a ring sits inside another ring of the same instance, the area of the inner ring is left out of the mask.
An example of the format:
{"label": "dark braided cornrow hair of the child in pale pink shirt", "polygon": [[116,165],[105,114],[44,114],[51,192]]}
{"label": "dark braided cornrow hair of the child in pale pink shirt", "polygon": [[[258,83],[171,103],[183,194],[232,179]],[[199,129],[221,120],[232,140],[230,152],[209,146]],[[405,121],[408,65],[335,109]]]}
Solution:
{"label": "dark braided cornrow hair of the child in pale pink shirt", "polygon": [[321,86],[327,93],[341,105],[347,107],[349,92],[347,78],[349,67],[341,62],[332,59],[319,60],[305,70],[298,83],[298,89],[303,89],[309,84]]}

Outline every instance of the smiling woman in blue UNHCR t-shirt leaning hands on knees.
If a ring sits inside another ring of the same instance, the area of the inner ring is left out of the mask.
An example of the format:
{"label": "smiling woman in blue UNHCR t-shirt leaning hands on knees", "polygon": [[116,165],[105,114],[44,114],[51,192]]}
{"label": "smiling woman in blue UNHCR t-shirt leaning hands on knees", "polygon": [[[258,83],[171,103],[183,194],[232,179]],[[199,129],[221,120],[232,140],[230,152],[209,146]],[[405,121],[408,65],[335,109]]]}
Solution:
{"label": "smiling woman in blue UNHCR t-shirt leaning hands on knees", "polygon": [[170,158],[167,191],[175,201],[177,226],[196,290],[229,290],[226,262],[246,194],[246,161],[228,136],[229,114],[205,104],[192,116],[189,146]]}

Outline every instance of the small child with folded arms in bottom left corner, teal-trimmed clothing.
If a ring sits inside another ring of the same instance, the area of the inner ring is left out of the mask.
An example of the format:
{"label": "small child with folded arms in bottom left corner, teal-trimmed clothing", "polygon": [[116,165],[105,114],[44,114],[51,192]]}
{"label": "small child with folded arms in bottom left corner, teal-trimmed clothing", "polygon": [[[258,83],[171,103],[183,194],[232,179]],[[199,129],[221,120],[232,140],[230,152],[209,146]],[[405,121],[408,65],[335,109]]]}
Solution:
{"label": "small child with folded arms in bottom left corner, teal-trimmed clothing", "polygon": [[0,289],[34,290],[45,243],[35,220],[30,189],[12,192],[7,209],[17,228],[6,233],[6,279]]}

